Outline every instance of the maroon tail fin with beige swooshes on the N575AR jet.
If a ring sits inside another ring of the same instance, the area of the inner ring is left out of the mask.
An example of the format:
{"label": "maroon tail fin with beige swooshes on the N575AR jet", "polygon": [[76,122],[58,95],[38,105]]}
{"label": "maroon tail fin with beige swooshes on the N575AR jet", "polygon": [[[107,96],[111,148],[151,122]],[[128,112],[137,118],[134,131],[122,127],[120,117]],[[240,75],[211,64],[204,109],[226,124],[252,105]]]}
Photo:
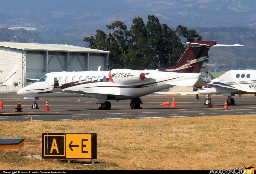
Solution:
{"label": "maroon tail fin with beige swooshes on the N575AR jet", "polygon": [[178,63],[174,67],[160,68],[159,71],[199,73],[210,47],[216,44],[216,41],[186,42],[188,48],[181,56]]}

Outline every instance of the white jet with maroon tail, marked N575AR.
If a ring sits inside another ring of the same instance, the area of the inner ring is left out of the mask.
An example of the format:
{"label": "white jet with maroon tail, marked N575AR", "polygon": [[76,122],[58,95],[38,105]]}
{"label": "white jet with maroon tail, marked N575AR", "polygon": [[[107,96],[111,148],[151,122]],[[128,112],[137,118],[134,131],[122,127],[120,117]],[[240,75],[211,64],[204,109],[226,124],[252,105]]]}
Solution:
{"label": "white jet with maroon tail, marked N575AR", "polygon": [[106,100],[131,100],[131,108],[140,108],[139,97],[172,86],[195,86],[208,50],[216,41],[186,42],[188,48],[171,68],[156,70],[113,69],[111,71],[51,72],[17,92],[26,99],[49,97],[95,97],[102,109],[111,108]]}

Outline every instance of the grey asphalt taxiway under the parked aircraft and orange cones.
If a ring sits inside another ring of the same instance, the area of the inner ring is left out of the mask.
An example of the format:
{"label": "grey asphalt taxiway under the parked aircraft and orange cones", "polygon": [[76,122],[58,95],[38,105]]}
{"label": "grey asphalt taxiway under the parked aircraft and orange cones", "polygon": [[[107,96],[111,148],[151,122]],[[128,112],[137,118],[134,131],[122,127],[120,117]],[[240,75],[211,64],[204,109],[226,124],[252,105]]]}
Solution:
{"label": "grey asphalt taxiway under the parked aircraft and orange cones", "polygon": [[[212,95],[212,108],[204,106],[205,95],[199,96],[196,101],[195,95],[148,95],[141,97],[144,104],[142,109],[131,109],[130,100],[110,101],[111,109],[100,110],[100,104],[95,104],[95,98],[48,98],[49,109],[45,112],[46,98],[39,98],[37,104],[39,109],[31,109],[33,100],[21,98],[23,112],[15,112],[18,103],[17,93],[0,93],[5,109],[0,109],[2,116],[0,121],[33,121],[39,120],[70,120],[70,119],[121,119],[121,118],[153,118],[153,117],[189,117],[189,116],[218,116],[218,115],[241,115],[256,114],[256,98],[254,95],[234,96],[236,105],[228,106],[224,110],[227,97]],[[160,106],[169,101],[172,105],[173,97],[177,107]]]}

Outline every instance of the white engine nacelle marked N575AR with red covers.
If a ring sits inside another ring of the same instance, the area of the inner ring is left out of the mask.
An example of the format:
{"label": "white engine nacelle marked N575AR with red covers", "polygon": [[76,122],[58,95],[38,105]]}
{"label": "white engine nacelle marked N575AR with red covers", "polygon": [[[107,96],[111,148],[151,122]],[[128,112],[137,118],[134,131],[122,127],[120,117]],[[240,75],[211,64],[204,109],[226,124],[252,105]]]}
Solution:
{"label": "white engine nacelle marked N575AR with red covers", "polygon": [[109,80],[119,85],[129,85],[145,80],[145,73],[132,69],[112,69]]}

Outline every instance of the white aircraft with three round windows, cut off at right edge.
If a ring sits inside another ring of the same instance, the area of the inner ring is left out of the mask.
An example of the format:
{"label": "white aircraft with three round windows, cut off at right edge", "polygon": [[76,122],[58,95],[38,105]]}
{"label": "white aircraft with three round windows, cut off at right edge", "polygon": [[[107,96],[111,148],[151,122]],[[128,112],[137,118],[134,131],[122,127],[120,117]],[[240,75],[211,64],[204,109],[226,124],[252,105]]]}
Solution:
{"label": "white aircraft with three round windows, cut off at right edge", "polygon": [[198,88],[197,94],[207,94],[205,104],[209,103],[209,95],[220,94],[228,96],[228,105],[233,105],[235,100],[231,97],[238,94],[256,95],[256,70],[230,70],[219,78],[213,79],[207,86]]}

